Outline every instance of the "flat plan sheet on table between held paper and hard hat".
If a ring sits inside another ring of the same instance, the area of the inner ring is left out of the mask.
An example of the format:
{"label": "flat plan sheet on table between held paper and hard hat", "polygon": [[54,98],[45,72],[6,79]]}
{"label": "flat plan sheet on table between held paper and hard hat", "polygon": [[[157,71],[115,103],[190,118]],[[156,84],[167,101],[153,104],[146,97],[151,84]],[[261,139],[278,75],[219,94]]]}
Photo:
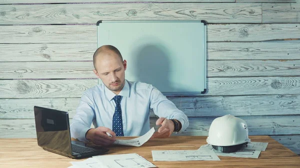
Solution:
{"label": "flat plan sheet on table between held paper and hard hat", "polygon": [[211,150],[152,151],[153,161],[220,161]]}

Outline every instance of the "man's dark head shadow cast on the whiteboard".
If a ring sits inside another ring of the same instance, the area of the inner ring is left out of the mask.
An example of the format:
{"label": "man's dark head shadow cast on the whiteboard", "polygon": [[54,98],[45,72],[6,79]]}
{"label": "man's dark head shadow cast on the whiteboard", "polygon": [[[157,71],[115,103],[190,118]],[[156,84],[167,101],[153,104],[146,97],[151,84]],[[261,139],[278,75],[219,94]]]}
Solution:
{"label": "man's dark head shadow cast on the whiteboard", "polygon": [[174,74],[182,67],[172,60],[176,58],[163,45],[145,44],[132,53],[132,62],[128,62],[132,68],[128,73],[134,74],[135,80],[153,85],[164,95],[187,91],[182,82],[177,82],[180,77]]}

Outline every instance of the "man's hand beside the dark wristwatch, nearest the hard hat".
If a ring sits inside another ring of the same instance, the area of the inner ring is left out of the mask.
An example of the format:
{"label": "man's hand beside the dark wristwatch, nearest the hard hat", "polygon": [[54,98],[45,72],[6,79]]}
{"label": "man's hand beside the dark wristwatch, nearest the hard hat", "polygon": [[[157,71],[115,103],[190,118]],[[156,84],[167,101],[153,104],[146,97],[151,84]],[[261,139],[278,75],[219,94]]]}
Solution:
{"label": "man's hand beside the dark wristwatch, nearest the hard hat", "polygon": [[174,131],[174,123],[171,120],[160,117],[156,121],[156,126],[160,126],[158,131],[155,132],[151,138],[168,138]]}

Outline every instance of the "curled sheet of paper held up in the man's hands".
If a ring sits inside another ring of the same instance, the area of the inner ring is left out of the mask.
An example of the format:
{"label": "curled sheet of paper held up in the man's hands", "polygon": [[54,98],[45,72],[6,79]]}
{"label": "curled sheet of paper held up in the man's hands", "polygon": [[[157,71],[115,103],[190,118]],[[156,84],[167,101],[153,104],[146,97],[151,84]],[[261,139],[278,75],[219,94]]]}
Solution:
{"label": "curled sheet of paper held up in the man's hands", "polygon": [[143,145],[145,142],[147,142],[153,133],[155,132],[154,127],[152,127],[146,134],[143,136],[140,136],[138,138],[134,138],[131,140],[116,140],[114,144],[117,145],[126,145],[126,146],[133,146],[133,147],[140,147]]}

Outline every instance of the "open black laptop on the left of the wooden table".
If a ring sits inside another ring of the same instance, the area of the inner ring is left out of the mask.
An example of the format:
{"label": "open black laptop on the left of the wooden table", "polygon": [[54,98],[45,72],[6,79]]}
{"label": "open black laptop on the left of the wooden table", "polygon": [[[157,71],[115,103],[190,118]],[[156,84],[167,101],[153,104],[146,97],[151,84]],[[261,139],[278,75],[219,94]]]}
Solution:
{"label": "open black laptop on the left of the wooden table", "polygon": [[37,144],[45,151],[73,159],[102,155],[109,151],[71,141],[68,113],[34,106]]}

